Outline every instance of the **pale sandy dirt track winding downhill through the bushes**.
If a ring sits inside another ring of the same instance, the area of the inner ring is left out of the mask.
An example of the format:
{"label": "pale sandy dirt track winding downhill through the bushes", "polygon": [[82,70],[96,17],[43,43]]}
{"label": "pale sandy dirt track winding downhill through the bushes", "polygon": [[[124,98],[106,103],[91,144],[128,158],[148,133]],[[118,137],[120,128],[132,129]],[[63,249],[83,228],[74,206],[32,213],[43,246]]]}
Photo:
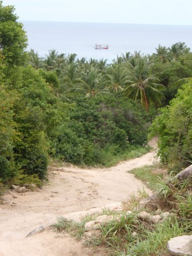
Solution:
{"label": "pale sandy dirt track winding downhill through the bushes", "polygon": [[[151,146],[156,140],[150,141]],[[96,207],[121,202],[143,187],[141,181],[127,171],[152,164],[155,150],[130,161],[103,169],[51,167],[49,184],[36,192],[6,194],[0,207],[0,256],[75,256],[90,255],[90,249],[68,235],[57,235],[51,230],[25,238],[42,223],[52,223],[60,215],[78,218],[79,213]],[[146,191],[149,191],[145,188]],[[55,193],[56,192],[56,193]],[[103,255],[94,252],[94,255]]]}

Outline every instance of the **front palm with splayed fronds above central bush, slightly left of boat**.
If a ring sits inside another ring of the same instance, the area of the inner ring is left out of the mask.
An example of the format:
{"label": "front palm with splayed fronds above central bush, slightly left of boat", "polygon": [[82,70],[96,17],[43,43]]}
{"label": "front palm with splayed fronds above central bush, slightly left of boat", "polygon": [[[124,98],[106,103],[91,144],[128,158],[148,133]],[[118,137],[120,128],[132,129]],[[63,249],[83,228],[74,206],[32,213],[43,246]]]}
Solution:
{"label": "front palm with splayed fronds above central bush, slightly left of boat", "polygon": [[83,74],[82,79],[79,80],[80,86],[76,87],[74,91],[84,94],[86,98],[94,97],[97,94],[110,94],[107,89],[103,89],[101,80],[102,77],[98,70],[91,67]]}

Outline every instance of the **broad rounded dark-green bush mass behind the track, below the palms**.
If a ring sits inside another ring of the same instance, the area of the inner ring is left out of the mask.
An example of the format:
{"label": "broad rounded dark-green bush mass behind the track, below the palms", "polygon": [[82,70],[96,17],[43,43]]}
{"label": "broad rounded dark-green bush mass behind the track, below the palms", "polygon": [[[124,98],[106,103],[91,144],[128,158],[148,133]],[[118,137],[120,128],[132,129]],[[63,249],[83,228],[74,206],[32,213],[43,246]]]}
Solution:
{"label": "broad rounded dark-green bush mass behind the track, below the palms", "polygon": [[[55,156],[87,165],[110,165],[129,158],[132,150],[137,151],[135,145],[147,139],[148,117],[139,110],[136,103],[119,95],[79,98],[70,108],[69,121],[58,127]],[[139,154],[141,151],[138,148]],[[137,155],[135,152],[133,157]]]}

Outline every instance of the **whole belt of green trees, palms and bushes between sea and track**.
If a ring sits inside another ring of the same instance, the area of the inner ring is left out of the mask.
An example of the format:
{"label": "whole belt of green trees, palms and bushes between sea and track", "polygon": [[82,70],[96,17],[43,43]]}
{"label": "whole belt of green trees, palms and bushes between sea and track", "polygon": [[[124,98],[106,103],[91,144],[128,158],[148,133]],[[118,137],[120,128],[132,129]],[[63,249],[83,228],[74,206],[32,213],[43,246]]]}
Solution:
{"label": "whole belt of green trees, palms and bushes between sea and track", "polygon": [[[192,76],[192,54],[185,43],[159,45],[152,55],[126,52],[111,64],[56,50],[39,57],[34,50],[26,52],[26,33],[17,19],[14,7],[0,1],[3,182],[17,175],[44,179],[49,156],[75,164],[109,165],[133,149],[142,151],[157,108],[175,97],[180,86],[175,81]],[[190,89],[185,87],[183,93],[186,90]],[[191,159],[190,100],[181,95],[180,91],[154,123],[160,126],[159,154],[164,163],[176,155],[181,162]]]}

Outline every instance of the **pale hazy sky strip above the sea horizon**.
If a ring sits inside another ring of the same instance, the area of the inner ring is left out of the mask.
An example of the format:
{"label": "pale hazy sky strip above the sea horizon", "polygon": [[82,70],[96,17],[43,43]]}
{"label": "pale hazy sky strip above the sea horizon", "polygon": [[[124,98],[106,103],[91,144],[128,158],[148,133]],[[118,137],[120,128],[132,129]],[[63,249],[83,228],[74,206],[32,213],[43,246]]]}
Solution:
{"label": "pale hazy sky strip above the sea horizon", "polygon": [[3,0],[20,20],[192,25],[192,0]]}

